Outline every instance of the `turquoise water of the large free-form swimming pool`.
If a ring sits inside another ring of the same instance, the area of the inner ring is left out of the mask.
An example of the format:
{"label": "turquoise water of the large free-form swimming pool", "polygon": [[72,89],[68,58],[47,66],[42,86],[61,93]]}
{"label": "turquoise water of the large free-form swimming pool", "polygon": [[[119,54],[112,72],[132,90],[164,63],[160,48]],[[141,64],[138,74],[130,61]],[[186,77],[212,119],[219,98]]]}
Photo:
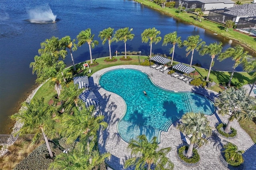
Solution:
{"label": "turquoise water of the large free-form swimming pool", "polygon": [[160,142],[160,132],[167,131],[184,113],[212,115],[215,110],[206,97],[161,89],[148,75],[134,69],[108,71],[100,77],[99,83],[107,91],[120,95],[126,103],[126,113],[118,124],[118,133],[126,142],[140,134],[146,134],[148,140],[157,136]]}

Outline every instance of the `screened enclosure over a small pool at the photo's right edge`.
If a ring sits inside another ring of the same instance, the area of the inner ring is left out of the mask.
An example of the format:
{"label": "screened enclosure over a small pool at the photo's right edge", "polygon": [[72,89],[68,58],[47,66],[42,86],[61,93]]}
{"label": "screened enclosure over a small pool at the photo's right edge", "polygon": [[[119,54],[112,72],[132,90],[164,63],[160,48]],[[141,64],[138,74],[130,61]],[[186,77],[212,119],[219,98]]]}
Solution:
{"label": "screened enclosure over a small pool at the photo's right edge", "polygon": [[239,18],[236,28],[246,33],[252,33],[252,35],[256,36],[256,16]]}

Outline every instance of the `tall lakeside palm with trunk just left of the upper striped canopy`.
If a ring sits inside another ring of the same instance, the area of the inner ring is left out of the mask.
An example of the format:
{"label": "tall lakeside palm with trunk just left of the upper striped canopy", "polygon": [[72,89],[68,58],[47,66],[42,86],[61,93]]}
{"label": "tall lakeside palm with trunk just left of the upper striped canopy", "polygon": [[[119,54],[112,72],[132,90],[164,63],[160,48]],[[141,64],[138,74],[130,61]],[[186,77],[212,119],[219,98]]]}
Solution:
{"label": "tall lakeside palm with trunk just left of the upper striped canopy", "polygon": [[151,54],[152,54],[152,43],[159,43],[162,40],[162,37],[160,37],[160,31],[156,30],[156,28],[148,28],[146,30],[144,30],[144,32],[142,32],[141,34],[141,39],[142,42],[144,43],[148,43],[149,41],[149,45],[150,45],[150,56],[149,59],[151,59]]}

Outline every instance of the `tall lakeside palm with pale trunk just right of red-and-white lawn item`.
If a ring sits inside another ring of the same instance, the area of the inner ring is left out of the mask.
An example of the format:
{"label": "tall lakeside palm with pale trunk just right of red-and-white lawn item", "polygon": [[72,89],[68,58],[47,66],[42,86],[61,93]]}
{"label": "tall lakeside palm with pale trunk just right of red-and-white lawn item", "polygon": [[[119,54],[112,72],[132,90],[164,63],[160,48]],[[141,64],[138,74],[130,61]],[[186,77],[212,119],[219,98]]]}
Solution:
{"label": "tall lakeside palm with pale trunk just right of red-and-white lawn item", "polygon": [[83,45],[84,43],[88,43],[89,45],[89,51],[90,51],[90,59],[91,59],[91,64],[92,62],[92,49],[94,48],[95,45],[98,45],[98,41],[93,40],[94,38],[94,34],[91,33],[91,29],[88,28],[87,30],[81,31],[78,36],[76,36],[77,40],[78,40],[78,47],[81,47],[81,45]]}

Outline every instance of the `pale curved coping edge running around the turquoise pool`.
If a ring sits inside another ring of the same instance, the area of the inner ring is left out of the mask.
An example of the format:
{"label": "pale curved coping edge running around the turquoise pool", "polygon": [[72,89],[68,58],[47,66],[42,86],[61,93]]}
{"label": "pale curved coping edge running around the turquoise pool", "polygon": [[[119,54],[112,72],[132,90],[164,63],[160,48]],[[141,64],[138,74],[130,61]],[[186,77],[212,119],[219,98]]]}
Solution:
{"label": "pale curved coping edge running around the turquoise pool", "polygon": [[[123,65],[124,66],[124,65]],[[172,93],[196,93],[196,92],[194,92],[194,91],[175,91],[175,90],[170,90],[170,89],[166,89],[166,88],[164,88],[164,87],[161,87],[160,85],[158,85],[158,84],[156,84],[153,80],[152,80],[152,78],[151,77],[153,77],[153,74],[151,73],[151,75],[149,74],[149,73],[146,73],[145,71],[142,71],[141,69],[138,69],[138,68],[130,68],[129,66],[130,65],[125,65],[125,66],[128,66],[128,67],[119,67],[119,68],[113,68],[113,69],[109,69],[109,70],[107,70],[107,71],[105,71],[104,73],[102,73],[101,75],[100,75],[100,77],[98,78],[98,85],[99,85],[99,87],[101,87],[102,89],[104,89],[101,85],[100,85],[100,78],[101,78],[101,76],[102,75],[104,75],[105,73],[108,73],[109,71],[113,71],[113,70],[118,70],[118,69],[131,69],[131,70],[136,70],[136,71],[140,71],[140,72],[142,72],[142,73],[144,73],[144,74],[146,74],[147,75],[147,77],[148,77],[148,79],[150,79],[150,81],[151,81],[151,83],[153,84],[153,85],[155,85],[156,87],[158,87],[158,88],[160,88],[160,89],[163,89],[163,90],[165,90],[165,91],[170,91],[170,92],[172,92]],[[135,66],[135,65],[134,65]],[[113,66],[113,67],[116,67],[116,66]],[[145,67],[145,66],[142,66],[142,67]],[[111,67],[109,67],[109,68],[111,68]],[[98,72],[98,71],[97,71]],[[96,73],[97,73],[96,72]],[[96,73],[94,73],[94,74],[96,74]],[[184,82],[182,82],[182,83],[184,83]],[[189,85],[190,87],[192,87],[191,85]],[[106,89],[104,89],[105,91],[108,91],[108,90],[106,90]],[[114,93],[114,92],[111,92],[111,91],[109,91],[110,93]],[[114,94],[116,94],[116,93],[114,93]],[[213,101],[212,101],[212,99],[210,99],[209,97],[207,97],[206,95],[202,95],[202,94],[200,94],[200,93],[196,93],[197,95],[200,95],[200,96],[202,96],[202,97],[205,97],[206,99],[208,99],[208,101],[210,102],[210,103],[212,103],[212,105],[214,106],[214,103],[213,103]],[[116,94],[116,95],[118,95],[118,94]],[[124,101],[124,99],[120,96],[120,95],[118,95],[121,99],[122,99],[122,101]],[[120,135],[120,132],[119,132],[119,123],[122,121],[122,119],[123,119],[123,117],[126,115],[126,112],[127,112],[127,105],[126,105],[126,102],[124,101],[124,104],[125,104],[125,110],[124,110],[124,113],[122,114],[122,116],[120,117],[120,119],[119,119],[119,121],[118,121],[118,123],[117,123],[117,125],[116,125],[116,129],[117,129],[117,132],[118,132],[118,134],[119,134],[119,136],[125,141],[125,142],[127,142],[127,143],[129,143],[129,141],[127,141],[126,139],[124,139],[123,138],[123,136],[122,135]],[[216,107],[214,107],[214,112],[212,112],[209,116],[211,116],[211,115],[213,115],[214,113],[216,112]],[[179,120],[179,119],[178,119]],[[176,121],[178,121],[178,120],[176,120]],[[156,136],[158,136],[158,144],[161,142],[161,133],[164,131],[164,132],[168,132],[168,130],[169,130],[169,128],[171,127],[171,125],[173,125],[176,121],[174,121],[174,122],[172,122],[172,123],[170,123],[168,126],[166,126],[166,128],[164,129],[164,130],[161,130],[161,129],[159,129],[159,131],[158,131],[158,135],[156,135]]]}

